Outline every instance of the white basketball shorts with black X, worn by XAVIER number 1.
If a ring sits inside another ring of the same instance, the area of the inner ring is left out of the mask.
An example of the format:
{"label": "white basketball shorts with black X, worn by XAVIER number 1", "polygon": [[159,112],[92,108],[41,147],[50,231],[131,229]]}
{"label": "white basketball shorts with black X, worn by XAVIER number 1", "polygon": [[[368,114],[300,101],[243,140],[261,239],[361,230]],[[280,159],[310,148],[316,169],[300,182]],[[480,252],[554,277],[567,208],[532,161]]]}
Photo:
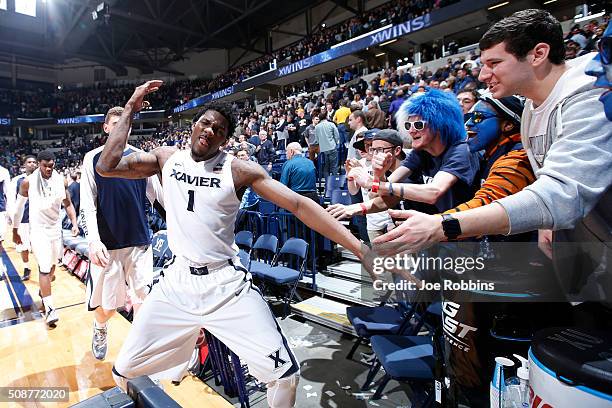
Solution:
{"label": "white basketball shorts with black X, worn by XAVIER number 1", "polygon": [[[119,352],[113,374],[180,381],[203,327],[263,383],[297,373],[299,365],[276,318],[238,258],[194,275],[184,258],[168,262]],[[119,383],[119,385],[123,384]]]}

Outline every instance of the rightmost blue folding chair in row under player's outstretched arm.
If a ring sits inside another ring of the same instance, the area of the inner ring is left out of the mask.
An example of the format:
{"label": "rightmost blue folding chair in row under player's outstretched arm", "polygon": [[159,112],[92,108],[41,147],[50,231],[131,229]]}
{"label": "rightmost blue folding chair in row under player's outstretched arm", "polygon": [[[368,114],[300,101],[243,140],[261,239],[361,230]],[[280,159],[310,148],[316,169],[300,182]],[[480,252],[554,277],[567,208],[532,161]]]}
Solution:
{"label": "rightmost blue folding chair in row under player's outstretched arm", "polygon": [[[294,259],[287,261],[287,266],[279,265],[279,260],[282,257]],[[308,243],[300,238],[289,238],[284,244],[278,255],[276,256],[275,266],[267,267],[261,270],[260,276],[267,282],[272,282],[277,286],[286,287],[287,290],[283,294],[284,297],[284,313],[283,319],[289,314],[289,305],[296,295],[297,284],[302,279],[306,260],[308,259]],[[290,261],[297,263],[297,269],[291,268]]]}

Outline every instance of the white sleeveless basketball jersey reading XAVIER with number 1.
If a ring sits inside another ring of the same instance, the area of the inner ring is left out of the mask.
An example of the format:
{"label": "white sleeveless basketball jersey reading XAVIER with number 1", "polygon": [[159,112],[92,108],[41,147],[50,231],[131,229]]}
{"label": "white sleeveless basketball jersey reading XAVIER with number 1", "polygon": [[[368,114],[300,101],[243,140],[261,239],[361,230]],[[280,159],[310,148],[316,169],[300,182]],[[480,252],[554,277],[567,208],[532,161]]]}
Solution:
{"label": "white sleeveless basketball jersey reading XAVIER with number 1", "polygon": [[232,178],[234,156],[219,153],[196,162],[189,150],[177,150],[166,161],[162,186],[168,245],[174,255],[194,264],[233,258],[234,222],[240,206]]}

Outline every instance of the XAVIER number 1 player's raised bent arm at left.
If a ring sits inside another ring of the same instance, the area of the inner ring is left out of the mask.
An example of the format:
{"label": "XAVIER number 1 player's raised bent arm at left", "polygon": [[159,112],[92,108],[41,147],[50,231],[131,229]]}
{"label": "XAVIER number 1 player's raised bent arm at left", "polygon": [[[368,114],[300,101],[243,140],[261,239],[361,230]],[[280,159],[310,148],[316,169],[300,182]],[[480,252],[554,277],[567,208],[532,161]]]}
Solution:
{"label": "XAVIER number 1 player's raised bent arm at left", "polygon": [[108,136],[96,165],[96,171],[101,176],[139,179],[157,174],[161,170],[158,150],[165,149],[155,149],[150,153],[134,152],[123,156],[134,114],[145,104],[144,97],[158,90],[161,84],[162,81],[158,80],[145,82],[136,88],[126,103],[121,118]]}

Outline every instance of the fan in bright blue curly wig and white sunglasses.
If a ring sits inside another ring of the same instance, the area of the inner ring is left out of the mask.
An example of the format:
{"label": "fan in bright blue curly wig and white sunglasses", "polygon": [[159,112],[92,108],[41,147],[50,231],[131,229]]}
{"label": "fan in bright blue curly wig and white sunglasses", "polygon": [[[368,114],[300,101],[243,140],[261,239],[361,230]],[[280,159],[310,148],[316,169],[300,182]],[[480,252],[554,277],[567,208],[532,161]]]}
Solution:
{"label": "fan in bright blue curly wig and white sunglasses", "polygon": [[393,208],[401,199],[444,212],[473,197],[478,158],[467,147],[454,96],[435,89],[412,96],[401,105],[397,124],[412,139],[412,151],[388,180],[384,174],[395,161],[390,152],[373,157],[374,177],[355,175],[360,187],[380,195],[364,204],[363,213]]}

